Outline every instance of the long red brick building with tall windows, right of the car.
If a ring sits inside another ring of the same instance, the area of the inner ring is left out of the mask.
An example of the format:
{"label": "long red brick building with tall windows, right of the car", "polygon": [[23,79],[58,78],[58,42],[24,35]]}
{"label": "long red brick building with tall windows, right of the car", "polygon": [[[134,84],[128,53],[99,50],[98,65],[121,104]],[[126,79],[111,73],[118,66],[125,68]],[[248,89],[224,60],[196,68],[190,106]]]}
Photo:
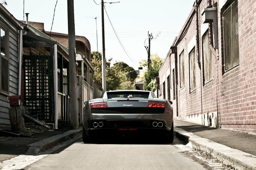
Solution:
{"label": "long red brick building with tall windows, right of the car", "polygon": [[177,119],[256,134],[256,1],[196,0],[159,90]]}

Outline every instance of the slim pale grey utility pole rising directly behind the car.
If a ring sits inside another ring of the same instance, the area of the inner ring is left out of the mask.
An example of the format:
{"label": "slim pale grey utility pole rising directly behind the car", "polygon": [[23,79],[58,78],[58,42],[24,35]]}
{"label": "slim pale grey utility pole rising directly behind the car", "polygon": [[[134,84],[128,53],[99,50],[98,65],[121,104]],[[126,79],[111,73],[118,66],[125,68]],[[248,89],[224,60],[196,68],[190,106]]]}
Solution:
{"label": "slim pale grey utility pole rising directly behind the car", "polygon": [[102,88],[106,91],[106,57],[105,57],[105,30],[104,30],[104,2],[101,0],[101,22],[102,22]]}

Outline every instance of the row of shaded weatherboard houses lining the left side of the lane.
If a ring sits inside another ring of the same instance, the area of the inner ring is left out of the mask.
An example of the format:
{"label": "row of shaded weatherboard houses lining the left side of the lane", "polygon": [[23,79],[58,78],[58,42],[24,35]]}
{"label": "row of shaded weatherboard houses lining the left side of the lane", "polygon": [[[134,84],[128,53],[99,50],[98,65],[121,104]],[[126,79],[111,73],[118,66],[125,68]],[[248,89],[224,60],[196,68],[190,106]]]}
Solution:
{"label": "row of shaded weatherboard houses lining the left side of the lane", "polygon": [[[68,48],[28,22],[16,20],[0,5],[0,129],[11,129],[9,96],[21,95],[26,113],[39,120],[70,122]],[[57,39],[58,33],[54,33]],[[62,35],[67,41],[68,35]],[[63,43],[63,42],[62,42]],[[76,37],[79,121],[83,102],[94,96],[90,43]],[[57,78],[57,79],[56,79]],[[58,123],[57,123],[58,124]],[[57,126],[57,125],[55,125]]]}

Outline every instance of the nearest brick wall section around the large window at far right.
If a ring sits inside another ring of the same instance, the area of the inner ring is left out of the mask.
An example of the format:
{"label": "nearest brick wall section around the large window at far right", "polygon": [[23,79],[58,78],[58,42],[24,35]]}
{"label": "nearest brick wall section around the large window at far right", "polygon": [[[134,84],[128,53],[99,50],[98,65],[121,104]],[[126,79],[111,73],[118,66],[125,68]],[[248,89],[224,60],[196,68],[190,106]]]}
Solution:
{"label": "nearest brick wall section around the large window at far right", "polygon": [[[221,12],[224,9],[221,9]],[[239,65],[220,75],[221,127],[254,134],[256,134],[255,14],[255,0],[238,0]]]}

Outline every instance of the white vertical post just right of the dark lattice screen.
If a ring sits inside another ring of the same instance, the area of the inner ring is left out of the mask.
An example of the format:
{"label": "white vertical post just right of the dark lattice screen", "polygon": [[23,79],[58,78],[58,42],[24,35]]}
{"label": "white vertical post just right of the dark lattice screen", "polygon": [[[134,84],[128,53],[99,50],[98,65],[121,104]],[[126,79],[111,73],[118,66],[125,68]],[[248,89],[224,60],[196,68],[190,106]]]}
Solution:
{"label": "white vertical post just right of the dark lattice screen", "polygon": [[57,64],[57,44],[54,44],[54,111],[55,111],[55,129],[58,129],[58,64]]}

